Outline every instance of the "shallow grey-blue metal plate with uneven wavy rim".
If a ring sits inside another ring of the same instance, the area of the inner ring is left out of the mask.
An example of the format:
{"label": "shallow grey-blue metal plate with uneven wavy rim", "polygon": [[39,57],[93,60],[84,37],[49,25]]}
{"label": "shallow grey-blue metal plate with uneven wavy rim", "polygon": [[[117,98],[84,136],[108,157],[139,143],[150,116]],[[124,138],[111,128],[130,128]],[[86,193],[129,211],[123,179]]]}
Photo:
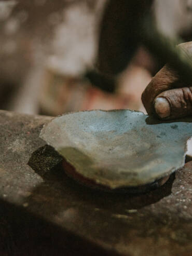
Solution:
{"label": "shallow grey-blue metal plate with uneven wavy rim", "polygon": [[112,189],[133,187],[184,166],[191,122],[162,123],[131,110],[83,111],[52,119],[40,138],[86,179]]}

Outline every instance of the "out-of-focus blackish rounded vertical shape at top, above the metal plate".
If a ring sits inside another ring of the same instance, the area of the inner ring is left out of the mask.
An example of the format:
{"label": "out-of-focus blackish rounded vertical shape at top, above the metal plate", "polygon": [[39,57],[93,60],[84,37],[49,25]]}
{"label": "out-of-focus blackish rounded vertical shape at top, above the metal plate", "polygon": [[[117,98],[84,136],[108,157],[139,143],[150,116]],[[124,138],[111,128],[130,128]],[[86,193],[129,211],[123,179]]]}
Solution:
{"label": "out-of-focus blackish rounded vertical shape at top, above the metal plate", "polygon": [[138,48],[141,23],[153,0],[111,0],[101,24],[98,68],[116,75],[124,70]]}

